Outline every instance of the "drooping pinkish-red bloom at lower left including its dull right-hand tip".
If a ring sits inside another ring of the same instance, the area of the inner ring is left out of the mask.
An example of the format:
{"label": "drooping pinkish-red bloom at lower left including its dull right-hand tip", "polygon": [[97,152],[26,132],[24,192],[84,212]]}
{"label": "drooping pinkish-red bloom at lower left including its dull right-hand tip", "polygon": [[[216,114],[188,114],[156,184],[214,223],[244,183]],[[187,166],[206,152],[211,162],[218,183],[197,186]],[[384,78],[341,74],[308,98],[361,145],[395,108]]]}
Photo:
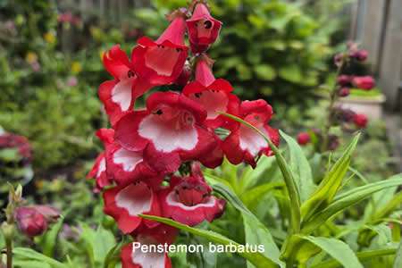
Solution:
{"label": "drooping pinkish-red bloom at lower left including its dull right-hand tip", "polygon": [[29,238],[43,234],[48,222],[56,221],[59,216],[60,212],[48,205],[21,206],[14,212],[18,228]]}

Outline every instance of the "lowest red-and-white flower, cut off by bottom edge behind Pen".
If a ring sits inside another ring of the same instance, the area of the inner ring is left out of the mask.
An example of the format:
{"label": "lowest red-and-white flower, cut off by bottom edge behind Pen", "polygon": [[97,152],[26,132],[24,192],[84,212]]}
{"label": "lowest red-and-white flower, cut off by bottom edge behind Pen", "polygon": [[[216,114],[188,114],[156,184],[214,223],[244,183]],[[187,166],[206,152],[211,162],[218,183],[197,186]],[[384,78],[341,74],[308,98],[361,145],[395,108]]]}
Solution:
{"label": "lowest red-and-white flower, cut off by bottom edge behind Pen", "polygon": [[[138,244],[137,244],[138,243]],[[137,242],[121,247],[122,268],[172,268],[172,262],[166,252],[142,250],[141,246],[157,245],[155,239],[138,236]],[[137,246],[136,246],[137,245]]]}

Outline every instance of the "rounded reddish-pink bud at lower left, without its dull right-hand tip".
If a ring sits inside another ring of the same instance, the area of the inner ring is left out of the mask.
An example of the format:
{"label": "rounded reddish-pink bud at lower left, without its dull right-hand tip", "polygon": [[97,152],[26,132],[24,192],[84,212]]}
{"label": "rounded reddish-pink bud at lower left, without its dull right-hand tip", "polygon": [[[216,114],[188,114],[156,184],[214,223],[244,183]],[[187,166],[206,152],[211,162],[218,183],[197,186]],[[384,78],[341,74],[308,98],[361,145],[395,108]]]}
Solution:
{"label": "rounded reddish-pink bud at lower left, without its dull right-hand tip", "polygon": [[21,206],[15,210],[18,228],[29,238],[39,236],[47,229],[46,218],[34,207]]}

